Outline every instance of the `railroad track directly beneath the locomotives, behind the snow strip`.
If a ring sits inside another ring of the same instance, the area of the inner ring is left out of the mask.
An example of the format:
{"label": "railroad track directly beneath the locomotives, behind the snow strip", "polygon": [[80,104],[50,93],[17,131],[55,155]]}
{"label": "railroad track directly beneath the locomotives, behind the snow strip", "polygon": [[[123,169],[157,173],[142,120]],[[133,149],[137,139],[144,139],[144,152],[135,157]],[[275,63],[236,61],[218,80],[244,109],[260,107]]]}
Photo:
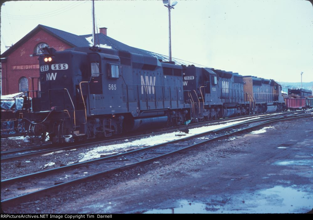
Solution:
{"label": "railroad track directly beneath the locomotives, behind the snow strip", "polygon": [[[216,123],[221,123],[221,122],[228,122],[228,121],[240,121],[245,118],[255,118],[255,117],[262,117],[262,118],[268,118],[273,115],[284,115],[284,114],[290,114],[290,113],[304,113],[305,111],[290,111],[290,112],[283,112],[283,113],[273,113],[273,114],[256,114],[256,115],[249,115],[249,116],[240,116],[240,117],[235,117],[235,118],[225,118],[225,119],[220,119],[220,120],[215,120],[215,121],[206,121],[206,122],[199,122],[199,123],[194,123],[188,126],[188,128],[195,128],[199,126],[204,126],[204,125],[212,125]],[[138,138],[142,136],[148,136],[148,135],[155,135],[155,134],[163,134],[167,132],[172,132],[176,131],[177,129],[181,129],[182,127],[174,127],[174,128],[167,128],[164,130],[164,128],[159,129],[160,131],[149,133],[149,134],[133,134],[132,136],[123,136],[119,138],[110,138],[110,139],[105,139],[105,140],[96,140],[96,141],[89,141],[89,142],[83,142],[82,144],[67,144],[67,145],[55,145],[55,144],[44,144],[44,145],[39,145],[39,146],[34,146],[34,147],[29,147],[29,148],[23,148],[23,149],[14,149],[14,150],[7,150],[7,151],[2,151],[1,152],[1,163],[3,162],[12,162],[12,161],[17,161],[17,160],[23,160],[23,159],[29,159],[33,158],[39,155],[44,155],[48,154],[51,152],[57,152],[61,150],[71,150],[71,149],[77,149],[81,147],[86,147],[91,144],[99,144],[99,143],[106,143],[106,142],[112,142],[112,141],[118,141],[118,140],[123,140],[123,139],[131,139],[131,138]],[[170,130],[169,130],[170,129]]]}

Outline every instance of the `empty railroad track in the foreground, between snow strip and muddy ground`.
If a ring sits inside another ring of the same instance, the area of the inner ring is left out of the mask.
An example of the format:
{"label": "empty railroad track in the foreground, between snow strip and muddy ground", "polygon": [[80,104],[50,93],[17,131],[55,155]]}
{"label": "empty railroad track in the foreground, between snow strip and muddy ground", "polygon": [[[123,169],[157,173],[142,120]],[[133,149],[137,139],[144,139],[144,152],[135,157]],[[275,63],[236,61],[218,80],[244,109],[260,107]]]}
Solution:
{"label": "empty railroad track in the foreground, between snow strip and muddy ground", "polygon": [[1,181],[1,205],[10,206],[30,199],[38,199],[40,196],[51,195],[69,186],[90,181],[112,172],[149,163],[156,159],[189,150],[212,140],[225,138],[268,123],[301,117],[312,117],[312,113],[294,113],[288,116],[255,119],[174,141],[168,141],[163,144],[156,144],[117,155],[6,179]]}

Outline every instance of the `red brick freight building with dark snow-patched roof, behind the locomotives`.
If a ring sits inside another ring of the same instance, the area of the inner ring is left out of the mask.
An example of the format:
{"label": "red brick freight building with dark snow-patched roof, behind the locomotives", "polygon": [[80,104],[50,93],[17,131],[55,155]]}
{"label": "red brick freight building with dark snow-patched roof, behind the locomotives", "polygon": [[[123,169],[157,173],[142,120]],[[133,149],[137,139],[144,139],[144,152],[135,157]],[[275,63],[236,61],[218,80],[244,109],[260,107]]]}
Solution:
{"label": "red brick freight building with dark snow-patched roof, behind the locomotives", "polygon": [[[39,77],[39,61],[38,56],[32,55],[40,53],[41,48],[49,46],[55,50],[66,50],[72,47],[92,46],[92,42],[92,34],[76,35],[39,24],[1,54],[1,94],[7,95],[30,91],[33,87],[34,90],[38,89],[38,79],[34,78],[34,83],[32,84],[31,77]],[[131,47],[108,37],[107,28],[100,28],[99,33],[95,34],[95,42],[100,47],[150,55],[164,61],[169,60],[168,56]],[[194,64],[175,58],[172,60],[176,64]]]}

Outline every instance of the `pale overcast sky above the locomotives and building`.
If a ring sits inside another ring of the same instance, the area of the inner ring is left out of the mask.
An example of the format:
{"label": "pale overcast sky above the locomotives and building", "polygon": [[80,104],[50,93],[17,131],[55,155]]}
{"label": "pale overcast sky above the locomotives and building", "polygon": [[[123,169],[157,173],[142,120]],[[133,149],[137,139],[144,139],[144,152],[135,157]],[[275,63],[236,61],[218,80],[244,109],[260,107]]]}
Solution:
{"label": "pale overcast sky above the locomotives and building", "polygon": [[[92,1],[9,1],[1,6],[1,54],[38,24],[92,33]],[[173,1],[171,1],[173,2]],[[178,0],[172,56],[276,81],[313,81],[313,7],[305,0]],[[124,44],[168,55],[162,1],[95,1],[96,24]]]}

